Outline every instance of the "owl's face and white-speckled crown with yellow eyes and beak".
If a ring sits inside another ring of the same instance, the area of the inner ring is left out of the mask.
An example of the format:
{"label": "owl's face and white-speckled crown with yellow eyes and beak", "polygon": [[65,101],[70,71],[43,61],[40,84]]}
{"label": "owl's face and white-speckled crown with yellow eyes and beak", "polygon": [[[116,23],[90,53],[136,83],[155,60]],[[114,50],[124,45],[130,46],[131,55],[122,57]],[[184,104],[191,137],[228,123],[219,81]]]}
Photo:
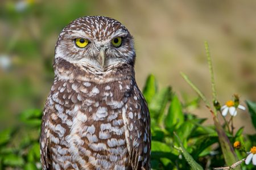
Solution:
{"label": "owl's face and white-speckled crown with yellow eyes and beak", "polygon": [[133,37],[117,20],[85,16],[71,22],[60,33],[55,61],[57,58],[101,71],[122,63],[134,65]]}

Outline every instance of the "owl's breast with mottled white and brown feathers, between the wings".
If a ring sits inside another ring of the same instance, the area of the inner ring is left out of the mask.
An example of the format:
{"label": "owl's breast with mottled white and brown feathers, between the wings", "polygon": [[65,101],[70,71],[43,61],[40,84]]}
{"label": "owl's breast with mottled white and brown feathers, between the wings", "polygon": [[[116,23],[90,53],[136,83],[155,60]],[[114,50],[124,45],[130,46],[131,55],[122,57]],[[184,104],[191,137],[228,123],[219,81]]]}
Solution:
{"label": "owl's breast with mottled white and brown feathers, between the wings", "polygon": [[55,79],[48,121],[55,169],[130,167],[123,112],[132,85],[132,80],[97,84]]}

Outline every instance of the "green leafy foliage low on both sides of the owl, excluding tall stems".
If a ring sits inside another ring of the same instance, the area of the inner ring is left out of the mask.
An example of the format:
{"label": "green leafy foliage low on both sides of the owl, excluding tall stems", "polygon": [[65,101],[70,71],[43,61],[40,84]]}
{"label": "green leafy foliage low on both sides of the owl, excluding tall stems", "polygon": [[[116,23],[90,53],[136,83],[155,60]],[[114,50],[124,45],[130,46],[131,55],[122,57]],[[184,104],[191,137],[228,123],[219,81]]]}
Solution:
{"label": "green leafy foliage low on both sides of the owl, excluding tall stems", "polygon": [[[204,125],[205,118],[187,112],[188,108],[197,107],[199,100],[181,103],[170,87],[159,90],[153,75],[148,76],[143,92],[151,113],[152,169],[188,169],[189,165],[192,169],[209,169],[225,164],[216,128]],[[246,103],[251,117],[254,117],[256,103]],[[41,116],[42,112],[38,109],[27,110],[18,117],[18,126],[0,132],[1,169],[40,169]],[[234,135],[227,130],[225,133],[232,142],[241,141],[245,147],[255,145],[256,134],[246,135],[242,131],[243,128],[240,128]],[[245,152],[238,150],[237,155],[239,159],[246,157]],[[245,165],[242,164],[242,167]],[[246,168],[253,169],[250,166]]]}

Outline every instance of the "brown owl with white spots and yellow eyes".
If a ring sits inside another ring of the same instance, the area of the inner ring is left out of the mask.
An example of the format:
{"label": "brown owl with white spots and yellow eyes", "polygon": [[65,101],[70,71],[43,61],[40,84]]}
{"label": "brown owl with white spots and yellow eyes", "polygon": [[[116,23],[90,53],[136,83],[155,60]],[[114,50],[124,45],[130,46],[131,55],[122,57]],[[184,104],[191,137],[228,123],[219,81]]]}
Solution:
{"label": "brown owl with white spots and yellow eyes", "polygon": [[85,16],[61,31],[43,111],[43,169],[150,169],[147,103],[135,81],[133,37]]}

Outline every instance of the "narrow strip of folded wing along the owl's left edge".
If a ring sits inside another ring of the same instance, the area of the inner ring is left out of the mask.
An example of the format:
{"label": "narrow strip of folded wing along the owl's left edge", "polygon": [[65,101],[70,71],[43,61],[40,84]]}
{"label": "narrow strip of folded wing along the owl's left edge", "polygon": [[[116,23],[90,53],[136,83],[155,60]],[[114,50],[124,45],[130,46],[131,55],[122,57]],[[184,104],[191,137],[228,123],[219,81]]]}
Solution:
{"label": "narrow strip of folded wing along the owl's left edge", "polygon": [[51,115],[52,109],[48,105],[48,100],[43,111],[42,125],[41,125],[41,134],[40,134],[40,154],[41,154],[41,163],[42,169],[51,169],[51,156],[49,155],[48,144],[49,138],[47,137],[47,121],[48,117]]}

